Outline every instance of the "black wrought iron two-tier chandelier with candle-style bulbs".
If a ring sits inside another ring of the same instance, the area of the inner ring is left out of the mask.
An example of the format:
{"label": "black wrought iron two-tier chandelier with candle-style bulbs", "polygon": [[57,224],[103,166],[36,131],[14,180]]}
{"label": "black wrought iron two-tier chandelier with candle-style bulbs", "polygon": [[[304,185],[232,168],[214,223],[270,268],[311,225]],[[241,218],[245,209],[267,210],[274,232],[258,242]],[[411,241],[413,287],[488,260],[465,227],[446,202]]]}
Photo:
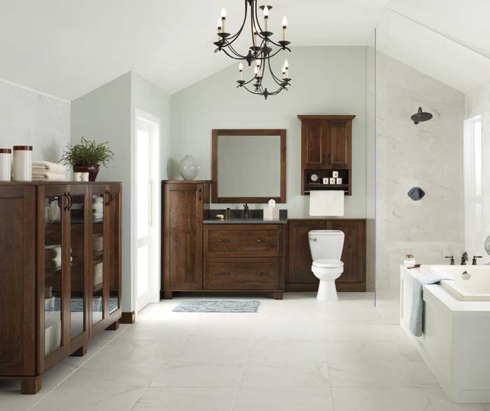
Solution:
{"label": "black wrought iron two-tier chandelier with candle-style bulbs", "polygon": [[[237,81],[237,88],[244,88],[248,92],[254,95],[262,95],[267,99],[269,96],[278,95],[282,90],[288,90],[290,86],[291,79],[289,78],[289,63],[288,60],[284,60],[282,67],[282,76],[279,78],[272,71],[270,60],[272,57],[280,53],[282,50],[291,51],[288,48],[290,42],[286,39],[288,20],[286,17],[282,20],[282,40],[273,41],[271,39],[273,32],[269,32],[269,11],[272,6],[260,6],[263,11],[264,21],[263,27],[260,25],[258,18],[258,6],[257,0],[244,0],[245,1],[245,17],[238,32],[234,35],[226,32],[226,10],[223,8],[221,10],[221,18],[218,19],[218,41],[214,42],[216,50],[214,53],[223,51],[225,55],[231,57],[234,60],[245,60],[248,63],[248,67],[253,68],[253,77],[250,80],[244,80],[244,65],[242,62],[239,63],[239,76],[240,79]],[[248,11],[250,8],[250,11]],[[233,43],[237,41],[241,32],[243,32],[246,25],[248,13],[251,17],[251,41],[252,46],[248,48],[248,53],[241,54],[235,50]],[[273,46],[276,46],[274,50]],[[269,72],[274,83],[274,88],[278,88],[274,91],[267,90],[265,85],[262,85],[266,71]]]}

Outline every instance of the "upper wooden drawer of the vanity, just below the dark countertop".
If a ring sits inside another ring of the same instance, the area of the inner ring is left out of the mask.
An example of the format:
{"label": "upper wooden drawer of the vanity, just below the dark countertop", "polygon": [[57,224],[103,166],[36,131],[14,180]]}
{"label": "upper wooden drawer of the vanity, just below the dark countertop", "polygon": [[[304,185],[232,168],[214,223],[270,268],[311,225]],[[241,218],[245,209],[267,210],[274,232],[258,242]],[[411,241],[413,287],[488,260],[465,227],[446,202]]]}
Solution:
{"label": "upper wooden drawer of the vanity, just below the dark countertop", "polygon": [[207,256],[280,256],[282,227],[276,225],[226,225],[204,228]]}

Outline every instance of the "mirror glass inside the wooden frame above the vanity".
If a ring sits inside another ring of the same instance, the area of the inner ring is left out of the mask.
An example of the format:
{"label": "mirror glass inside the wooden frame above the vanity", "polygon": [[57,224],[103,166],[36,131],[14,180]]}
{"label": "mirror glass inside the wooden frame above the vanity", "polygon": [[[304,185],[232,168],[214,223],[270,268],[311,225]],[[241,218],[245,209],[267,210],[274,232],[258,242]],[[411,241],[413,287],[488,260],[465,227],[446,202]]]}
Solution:
{"label": "mirror glass inside the wooden frame above the vanity", "polygon": [[279,197],[281,136],[218,136],[219,197]]}

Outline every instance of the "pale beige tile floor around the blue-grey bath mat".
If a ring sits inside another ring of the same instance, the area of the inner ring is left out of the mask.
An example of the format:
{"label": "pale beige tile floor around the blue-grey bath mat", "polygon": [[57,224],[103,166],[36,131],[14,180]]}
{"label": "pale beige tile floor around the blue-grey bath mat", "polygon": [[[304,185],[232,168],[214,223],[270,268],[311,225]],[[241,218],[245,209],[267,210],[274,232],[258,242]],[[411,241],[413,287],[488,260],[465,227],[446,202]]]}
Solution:
{"label": "pale beige tile floor around the blue-grey bath mat", "polygon": [[0,410],[490,410],[450,403],[372,294],[255,298],[256,314],[172,312],[197,298],[209,296],[150,305],[136,324],[98,335],[87,356],[49,370],[35,396],[0,382]]}

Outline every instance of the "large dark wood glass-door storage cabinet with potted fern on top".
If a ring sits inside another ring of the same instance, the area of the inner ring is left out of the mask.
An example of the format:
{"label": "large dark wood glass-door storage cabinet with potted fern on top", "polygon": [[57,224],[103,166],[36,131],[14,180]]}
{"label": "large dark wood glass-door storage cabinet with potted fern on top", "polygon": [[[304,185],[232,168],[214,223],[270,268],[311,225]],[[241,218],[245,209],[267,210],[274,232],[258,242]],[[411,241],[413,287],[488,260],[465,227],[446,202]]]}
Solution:
{"label": "large dark wood glass-door storage cabinet with potted fern on top", "polygon": [[[0,215],[0,379],[20,379],[22,393],[36,393],[45,370],[84,355],[97,330],[118,325],[120,183],[0,183]],[[92,233],[104,238],[100,255]],[[110,273],[101,281],[97,264]]]}

